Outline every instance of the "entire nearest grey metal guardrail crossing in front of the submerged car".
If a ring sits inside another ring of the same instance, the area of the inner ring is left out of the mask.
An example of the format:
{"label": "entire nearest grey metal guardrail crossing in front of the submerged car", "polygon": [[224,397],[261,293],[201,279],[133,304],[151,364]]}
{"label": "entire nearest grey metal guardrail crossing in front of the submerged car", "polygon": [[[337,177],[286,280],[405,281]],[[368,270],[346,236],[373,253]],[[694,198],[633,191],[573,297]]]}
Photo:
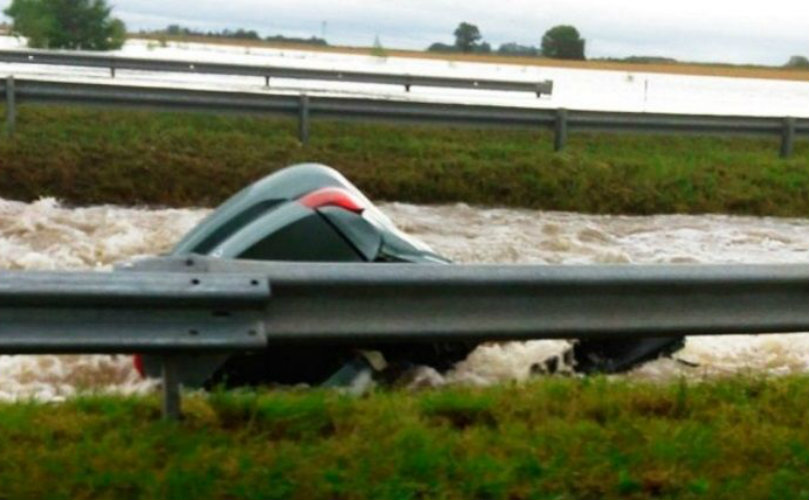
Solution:
{"label": "entire nearest grey metal guardrail crossing in front of the submerged car", "polygon": [[[126,272],[124,272],[126,271]],[[809,331],[809,265],[491,266],[154,258],[0,273],[0,352],[162,356],[294,341],[644,338]]]}

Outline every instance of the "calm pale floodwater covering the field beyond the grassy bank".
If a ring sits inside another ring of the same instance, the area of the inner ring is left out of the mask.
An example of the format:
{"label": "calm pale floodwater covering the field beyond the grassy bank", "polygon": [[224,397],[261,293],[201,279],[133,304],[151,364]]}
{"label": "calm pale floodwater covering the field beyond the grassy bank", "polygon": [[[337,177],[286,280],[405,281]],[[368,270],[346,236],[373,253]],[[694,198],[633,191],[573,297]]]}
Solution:
{"label": "calm pale floodwater covering the field beyond the grassy bank", "polygon": [[[0,36],[0,49],[21,48],[22,40]],[[369,96],[416,100],[649,113],[728,114],[745,116],[809,116],[809,85],[804,81],[666,74],[640,70],[577,69],[502,62],[462,62],[409,57],[234,47],[221,44],[129,40],[123,57],[250,64],[330,71],[488,78],[536,83],[554,82],[553,94],[537,99],[532,92],[479,91],[414,86],[273,78],[269,88],[257,77],[118,70],[107,68],[0,63],[17,78],[117,83],[177,88],[204,88],[264,93],[307,92],[311,95]],[[637,68],[636,68],[637,69]]]}

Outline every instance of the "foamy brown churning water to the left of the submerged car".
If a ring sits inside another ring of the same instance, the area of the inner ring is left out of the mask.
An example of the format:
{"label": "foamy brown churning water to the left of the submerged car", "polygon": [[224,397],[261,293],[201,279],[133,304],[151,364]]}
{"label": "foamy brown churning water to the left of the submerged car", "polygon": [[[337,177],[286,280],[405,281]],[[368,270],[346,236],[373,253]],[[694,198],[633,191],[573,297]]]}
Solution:
{"label": "foamy brown churning water to the left of the submerged car", "polygon": [[[169,250],[205,213],[0,199],[0,268],[109,270]],[[0,356],[0,400],[61,400],[82,390],[141,393],[154,385],[135,372],[131,356]]]}

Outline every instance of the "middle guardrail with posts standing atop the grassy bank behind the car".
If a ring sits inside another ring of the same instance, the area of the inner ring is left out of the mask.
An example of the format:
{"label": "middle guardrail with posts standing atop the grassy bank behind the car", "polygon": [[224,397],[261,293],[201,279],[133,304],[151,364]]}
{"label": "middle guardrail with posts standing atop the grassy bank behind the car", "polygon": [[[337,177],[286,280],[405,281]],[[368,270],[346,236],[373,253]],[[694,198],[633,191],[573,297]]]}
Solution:
{"label": "middle guardrail with posts standing atop the grassy bank behind the car", "polygon": [[309,139],[309,122],[313,117],[549,129],[554,131],[554,147],[557,151],[564,148],[569,133],[576,131],[780,137],[782,157],[792,154],[797,137],[809,137],[809,118],[793,117],[535,109],[15,80],[13,77],[0,80],[0,92],[6,96],[6,131],[9,134],[14,132],[17,103],[29,102],[295,116],[298,118],[298,136],[304,144]]}

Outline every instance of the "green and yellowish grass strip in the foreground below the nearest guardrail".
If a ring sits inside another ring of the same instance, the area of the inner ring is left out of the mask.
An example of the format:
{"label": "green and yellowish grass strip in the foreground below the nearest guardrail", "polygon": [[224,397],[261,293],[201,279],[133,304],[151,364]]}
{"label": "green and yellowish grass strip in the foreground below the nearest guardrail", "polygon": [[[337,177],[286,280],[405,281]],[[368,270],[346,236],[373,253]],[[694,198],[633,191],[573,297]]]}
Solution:
{"label": "green and yellowish grass strip in the foreground below the nearest guardrail", "polygon": [[809,379],[0,405],[3,498],[804,498]]}

